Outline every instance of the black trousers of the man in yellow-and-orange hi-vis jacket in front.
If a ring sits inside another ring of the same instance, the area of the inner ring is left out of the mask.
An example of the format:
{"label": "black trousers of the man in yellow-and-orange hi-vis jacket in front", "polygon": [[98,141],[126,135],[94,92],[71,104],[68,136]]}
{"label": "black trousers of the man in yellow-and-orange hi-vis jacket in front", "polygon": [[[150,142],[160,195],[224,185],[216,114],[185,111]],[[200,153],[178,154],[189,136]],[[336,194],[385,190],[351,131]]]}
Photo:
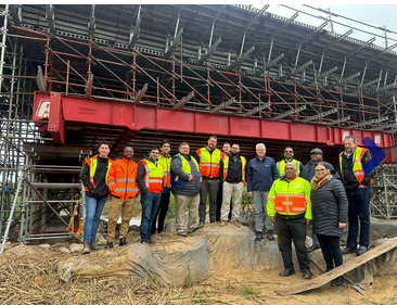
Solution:
{"label": "black trousers of the man in yellow-and-orange hi-vis jacket in front", "polygon": [[284,219],[276,214],[276,228],[279,238],[279,250],[283,258],[284,268],[294,270],[292,260],[292,242],[294,242],[296,256],[299,262],[300,271],[310,271],[309,255],[306,249],[306,218]]}

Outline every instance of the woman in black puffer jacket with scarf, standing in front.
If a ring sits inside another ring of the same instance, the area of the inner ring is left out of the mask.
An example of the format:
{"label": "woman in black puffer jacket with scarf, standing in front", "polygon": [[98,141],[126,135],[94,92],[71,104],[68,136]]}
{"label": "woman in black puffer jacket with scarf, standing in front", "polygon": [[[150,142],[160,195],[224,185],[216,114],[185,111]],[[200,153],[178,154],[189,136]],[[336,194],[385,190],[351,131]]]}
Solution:
{"label": "woman in black puffer jacket with scarf, standing in front", "polygon": [[[311,179],[311,208],[317,237],[324,257],[326,271],[343,264],[340,240],[347,223],[348,201],[343,183],[335,179],[323,162],[316,164],[316,175]],[[332,281],[341,285],[343,277]]]}

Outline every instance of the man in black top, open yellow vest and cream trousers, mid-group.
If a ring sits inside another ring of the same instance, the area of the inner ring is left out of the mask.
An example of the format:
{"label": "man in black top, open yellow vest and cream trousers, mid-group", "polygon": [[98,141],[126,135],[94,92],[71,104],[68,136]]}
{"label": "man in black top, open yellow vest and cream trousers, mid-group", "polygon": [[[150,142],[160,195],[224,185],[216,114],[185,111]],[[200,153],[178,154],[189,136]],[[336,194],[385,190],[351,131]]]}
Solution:
{"label": "man in black top, open yellow vest and cream trousers, mid-group", "polygon": [[228,220],[230,201],[232,194],[234,194],[232,221],[240,228],[239,217],[245,185],[245,157],[240,155],[240,145],[233,144],[230,156],[225,156],[220,167],[220,171],[223,173],[223,205],[221,209],[220,227],[225,227]]}

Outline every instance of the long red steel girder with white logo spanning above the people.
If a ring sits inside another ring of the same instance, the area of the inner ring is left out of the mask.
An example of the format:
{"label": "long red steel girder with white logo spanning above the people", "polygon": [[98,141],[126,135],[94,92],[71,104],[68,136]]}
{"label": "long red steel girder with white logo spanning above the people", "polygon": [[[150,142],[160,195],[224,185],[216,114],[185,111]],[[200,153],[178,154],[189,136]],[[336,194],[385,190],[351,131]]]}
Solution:
{"label": "long red steel girder with white logo spanning above the people", "polygon": [[[51,97],[60,93],[51,92]],[[40,102],[49,99],[49,93],[36,92],[34,113],[40,113]],[[345,136],[355,136],[358,144],[369,137],[381,148],[394,147],[390,134],[373,130],[348,129],[328,125],[315,125],[296,122],[274,122],[239,115],[210,114],[205,112],[164,109],[129,102],[86,99],[61,96],[53,107],[51,99],[50,120],[52,116],[62,116],[65,122],[81,122],[93,125],[113,125],[128,127],[130,130],[153,129],[164,131],[200,132],[258,139],[278,139],[287,141],[317,142],[319,144],[342,144]],[[53,112],[57,112],[56,115]],[[34,116],[33,119],[43,119]],[[50,124],[49,124],[50,125]],[[54,137],[54,136],[53,136]],[[56,138],[56,141],[60,137]],[[54,138],[55,141],[55,138]],[[55,142],[56,142],[55,141]]]}

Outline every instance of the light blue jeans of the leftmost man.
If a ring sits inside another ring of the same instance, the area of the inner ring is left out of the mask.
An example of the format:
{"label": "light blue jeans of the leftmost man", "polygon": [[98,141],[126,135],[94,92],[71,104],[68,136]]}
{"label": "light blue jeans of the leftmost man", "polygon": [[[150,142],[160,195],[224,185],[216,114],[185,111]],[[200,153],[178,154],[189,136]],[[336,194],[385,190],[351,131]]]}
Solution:
{"label": "light blue jeans of the leftmost man", "polygon": [[86,219],[84,227],[84,241],[90,242],[95,240],[97,231],[99,226],[99,220],[101,219],[101,214],[103,206],[105,206],[106,198],[94,199],[91,196],[86,198]]}

